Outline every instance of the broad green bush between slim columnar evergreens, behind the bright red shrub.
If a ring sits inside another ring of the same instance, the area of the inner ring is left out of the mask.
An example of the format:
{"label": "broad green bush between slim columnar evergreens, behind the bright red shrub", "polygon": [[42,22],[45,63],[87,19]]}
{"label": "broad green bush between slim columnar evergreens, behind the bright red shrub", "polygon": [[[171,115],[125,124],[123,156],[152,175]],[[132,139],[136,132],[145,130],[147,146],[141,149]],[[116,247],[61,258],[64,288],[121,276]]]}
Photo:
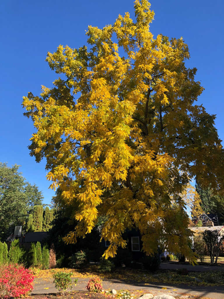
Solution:
{"label": "broad green bush between slim columnar evergreens, behind the bright red shrub", "polygon": [[[3,247],[4,246],[5,245],[3,244]],[[6,248],[7,248],[7,244],[4,249],[5,251],[6,251]],[[4,259],[5,259],[5,255],[6,255],[6,252],[4,253]],[[9,262],[13,263],[13,264],[23,264],[26,262],[25,255],[26,255],[25,249],[19,247],[19,239],[15,239],[11,243],[11,246],[9,249],[9,253],[8,253]]]}

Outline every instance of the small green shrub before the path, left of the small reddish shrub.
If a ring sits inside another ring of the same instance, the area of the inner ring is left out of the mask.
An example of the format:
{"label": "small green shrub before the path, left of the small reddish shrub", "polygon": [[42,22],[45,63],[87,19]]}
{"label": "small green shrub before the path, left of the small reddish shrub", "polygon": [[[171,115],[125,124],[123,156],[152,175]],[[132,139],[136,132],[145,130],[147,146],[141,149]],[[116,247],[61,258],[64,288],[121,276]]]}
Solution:
{"label": "small green shrub before the path, left of the small reddish shrub", "polygon": [[76,286],[78,279],[74,280],[74,285],[71,280],[72,273],[56,272],[53,274],[53,284],[59,290],[61,296],[65,296],[65,292],[71,291],[73,286]]}

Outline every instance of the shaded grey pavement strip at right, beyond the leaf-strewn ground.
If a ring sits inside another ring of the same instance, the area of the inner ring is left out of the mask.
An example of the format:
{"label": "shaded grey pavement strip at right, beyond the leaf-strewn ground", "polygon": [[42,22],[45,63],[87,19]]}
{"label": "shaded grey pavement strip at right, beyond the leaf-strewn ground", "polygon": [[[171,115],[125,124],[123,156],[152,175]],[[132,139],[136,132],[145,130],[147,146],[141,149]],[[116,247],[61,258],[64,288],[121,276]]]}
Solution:
{"label": "shaded grey pavement strip at right, beyond the leaf-strewn ground", "polygon": [[224,271],[224,267],[222,266],[201,266],[201,265],[179,265],[173,264],[172,262],[166,262],[160,264],[160,269],[170,269],[170,270],[177,270],[177,269],[188,269],[188,271]]}

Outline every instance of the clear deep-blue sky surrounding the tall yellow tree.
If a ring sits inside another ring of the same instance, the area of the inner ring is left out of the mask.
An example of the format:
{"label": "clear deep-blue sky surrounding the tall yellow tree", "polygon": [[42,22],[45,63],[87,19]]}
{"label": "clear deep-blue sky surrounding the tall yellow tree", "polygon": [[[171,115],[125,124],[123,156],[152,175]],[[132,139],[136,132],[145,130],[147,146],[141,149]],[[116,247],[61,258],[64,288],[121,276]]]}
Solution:
{"label": "clear deep-blue sky surrounding the tall yellow tree", "polygon": [[[154,35],[179,38],[189,45],[189,67],[196,67],[197,80],[205,91],[198,103],[216,114],[216,127],[224,140],[223,0],[151,0]],[[23,116],[22,96],[39,95],[41,85],[52,86],[57,78],[45,62],[47,51],[59,44],[78,48],[86,43],[88,25],[104,27],[120,13],[134,18],[132,0],[5,0],[0,1],[0,161],[22,165],[30,183],[42,190],[45,203],[54,195],[46,180],[45,163],[35,162],[27,146],[33,124]]]}

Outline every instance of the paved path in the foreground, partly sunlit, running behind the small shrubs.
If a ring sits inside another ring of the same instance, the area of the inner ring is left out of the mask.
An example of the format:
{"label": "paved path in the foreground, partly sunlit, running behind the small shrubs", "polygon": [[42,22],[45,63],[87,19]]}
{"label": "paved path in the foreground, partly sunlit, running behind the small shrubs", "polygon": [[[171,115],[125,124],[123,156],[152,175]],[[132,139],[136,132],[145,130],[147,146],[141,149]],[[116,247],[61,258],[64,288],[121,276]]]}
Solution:
{"label": "paved path in the foreground, partly sunlit, running behind the small shrubs", "polygon": [[[75,279],[75,278],[74,278]],[[74,290],[85,291],[89,278],[79,278],[77,286]],[[36,278],[34,289],[32,294],[48,294],[58,292],[53,286],[52,278]],[[212,299],[224,299],[224,286],[185,286],[185,285],[173,285],[173,284],[160,284],[160,283],[145,283],[145,282],[129,282],[122,280],[105,280],[102,282],[104,289],[116,289],[116,290],[147,290],[153,295],[159,295],[162,293],[167,293],[169,295],[177,296],[177,293],[197,295],[200,297],[208,297]],[[162,289],[166,287],[164,291]]]}

